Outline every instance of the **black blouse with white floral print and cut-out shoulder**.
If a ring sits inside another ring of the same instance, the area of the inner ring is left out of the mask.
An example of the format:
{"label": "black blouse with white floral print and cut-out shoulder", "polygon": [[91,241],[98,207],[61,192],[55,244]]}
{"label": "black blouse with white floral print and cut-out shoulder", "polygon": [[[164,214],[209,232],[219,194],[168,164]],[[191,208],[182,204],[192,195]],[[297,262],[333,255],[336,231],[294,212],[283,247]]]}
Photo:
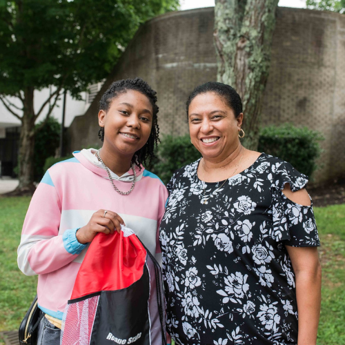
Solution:
{"label": "black blouse with white floral print and cut-out shoulder", "polygon": [[167,326],[177,344],[297,344],[295,274],[285,246],[319,246],[312,206],[282,193],[305,175],[262,153],[223,183],[175,172],[161,221]]}

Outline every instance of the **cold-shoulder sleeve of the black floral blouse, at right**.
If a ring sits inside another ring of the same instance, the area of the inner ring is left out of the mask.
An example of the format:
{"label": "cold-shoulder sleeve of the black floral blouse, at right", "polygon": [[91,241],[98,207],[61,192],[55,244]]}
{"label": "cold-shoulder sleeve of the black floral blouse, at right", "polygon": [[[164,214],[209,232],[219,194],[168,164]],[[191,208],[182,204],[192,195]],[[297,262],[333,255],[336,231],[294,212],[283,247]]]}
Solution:
{"label": "cold-shoulder sleeve of the black floral blouse, at right", "polygon": [[273,236],[276,241],[283,241],[286,246],[319,246],[319,235],[315,224],[313,205],[303,206],[288,199],[282,190],[290,184],[293,192],[306,186],[308,178],[289,163],[283,162],[277,167],[272,183],[273,197]]}

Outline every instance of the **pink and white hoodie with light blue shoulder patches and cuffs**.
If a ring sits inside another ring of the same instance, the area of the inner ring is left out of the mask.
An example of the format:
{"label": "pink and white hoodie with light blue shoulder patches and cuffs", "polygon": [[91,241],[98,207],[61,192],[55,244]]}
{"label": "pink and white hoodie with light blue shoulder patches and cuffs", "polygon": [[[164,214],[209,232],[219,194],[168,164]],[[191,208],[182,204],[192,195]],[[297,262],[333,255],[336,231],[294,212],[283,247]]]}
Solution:
{"label": "pink and white hoodie with light blue shoulder patches and cuffs", "polygon": [[[74,158],[48,169],[32,196],[21,234],[18,266],[25,275],[39,275],[39,308],[57,319],[62,319],[88,250],[75,233],[97,210],[118,213],[161,262],[158,229],[168,197],[166,187],[156,175],[136,167],[134,190],[119,195],[93,152],[73,152]],[[119,190],[127,191],[132,169],[121,177],[112,173],[112,178]]]}

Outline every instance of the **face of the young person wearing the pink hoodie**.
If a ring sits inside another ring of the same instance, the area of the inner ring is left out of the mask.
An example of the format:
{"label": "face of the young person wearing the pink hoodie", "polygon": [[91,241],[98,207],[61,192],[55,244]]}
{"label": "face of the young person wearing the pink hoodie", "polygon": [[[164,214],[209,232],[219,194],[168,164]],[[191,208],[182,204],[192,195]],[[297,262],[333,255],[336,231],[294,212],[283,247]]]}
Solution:
{"label": "face of the young person wearing the pink hoodie", "polygon": [[150,137],[152,106],[141,92],[128,90],[112,99],[108,112],[100,110],[98,119],[104,127],[103,146],[132,156]]}

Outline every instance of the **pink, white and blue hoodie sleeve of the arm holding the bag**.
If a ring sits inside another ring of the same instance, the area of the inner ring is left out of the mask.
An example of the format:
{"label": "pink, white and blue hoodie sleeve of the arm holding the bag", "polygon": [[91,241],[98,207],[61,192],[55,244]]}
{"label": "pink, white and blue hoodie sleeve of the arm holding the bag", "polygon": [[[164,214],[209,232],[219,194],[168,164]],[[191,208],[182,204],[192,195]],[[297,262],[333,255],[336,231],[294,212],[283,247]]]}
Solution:
{"label": "pink, white and blue hoodie sleeve of the arm holding the bag", "polygon": [[77,241],[78,228],[59,235],[61,200],[49,171],[32,196],[23,224],[18,266],[25,275],[58,270],[72,262],[86,247]]}

